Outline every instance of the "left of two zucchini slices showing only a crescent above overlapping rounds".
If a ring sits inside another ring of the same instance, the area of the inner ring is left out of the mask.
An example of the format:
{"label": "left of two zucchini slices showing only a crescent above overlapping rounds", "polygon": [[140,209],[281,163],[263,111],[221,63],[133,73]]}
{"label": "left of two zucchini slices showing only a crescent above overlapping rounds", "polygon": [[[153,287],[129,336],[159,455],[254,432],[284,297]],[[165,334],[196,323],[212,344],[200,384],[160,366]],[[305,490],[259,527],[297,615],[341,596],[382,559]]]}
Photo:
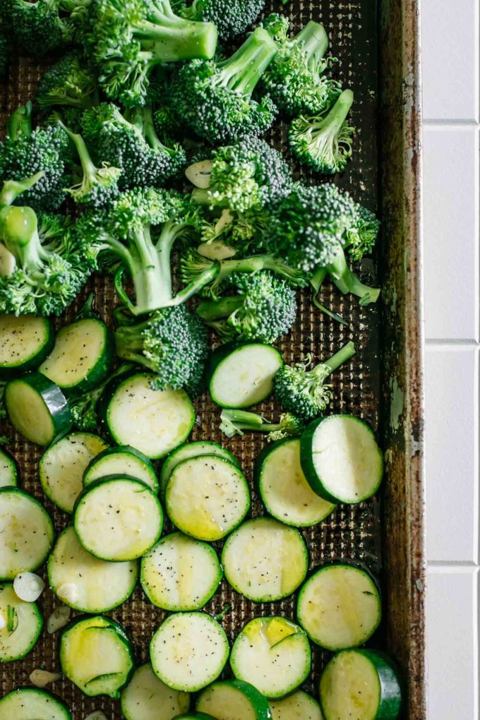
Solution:
{"label": "left of two zucchini slices showing only a crescent above overlapping rounds", "polygon": [[116,474],[136,477],[137,480],[145,482],[153,492],[158,492],[158,478],[153,464],[140,450],[130,445],[107,448],[94,457],[83,473],[83,485],[86,487],[94,480]]}

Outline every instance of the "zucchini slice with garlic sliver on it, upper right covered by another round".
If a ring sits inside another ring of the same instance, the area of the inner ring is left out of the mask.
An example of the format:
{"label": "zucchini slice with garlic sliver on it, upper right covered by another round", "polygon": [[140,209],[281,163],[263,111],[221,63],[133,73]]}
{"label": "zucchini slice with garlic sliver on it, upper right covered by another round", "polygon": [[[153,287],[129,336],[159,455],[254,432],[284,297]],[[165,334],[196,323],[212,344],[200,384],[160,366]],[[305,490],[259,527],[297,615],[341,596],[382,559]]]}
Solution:
{"label": "zucchini slice with garlic sliver on it, upper right covered by another round", "polygon": [[47,563],[55,595],[83,613],[106,613],[130,598],[138,579],[138,563],[99,560],[83,549],[73,527],[60,533]]}

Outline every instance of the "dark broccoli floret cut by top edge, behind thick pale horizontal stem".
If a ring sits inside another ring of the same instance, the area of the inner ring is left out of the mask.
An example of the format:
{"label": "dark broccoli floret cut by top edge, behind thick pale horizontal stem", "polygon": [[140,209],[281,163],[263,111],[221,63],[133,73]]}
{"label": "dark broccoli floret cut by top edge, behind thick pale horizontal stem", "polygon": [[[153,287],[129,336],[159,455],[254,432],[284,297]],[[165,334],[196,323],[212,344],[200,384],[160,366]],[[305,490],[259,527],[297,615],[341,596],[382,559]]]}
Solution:
{"label": "dark broccoli floret cut by top edge, behind thick pale horizontal stem", "polygon": [[182,17],[213,22],[219,37],[230,40],[255,22],[265,6],[265,0],[194,0],[190,6],[181,0],[178,5],[178,13]]}

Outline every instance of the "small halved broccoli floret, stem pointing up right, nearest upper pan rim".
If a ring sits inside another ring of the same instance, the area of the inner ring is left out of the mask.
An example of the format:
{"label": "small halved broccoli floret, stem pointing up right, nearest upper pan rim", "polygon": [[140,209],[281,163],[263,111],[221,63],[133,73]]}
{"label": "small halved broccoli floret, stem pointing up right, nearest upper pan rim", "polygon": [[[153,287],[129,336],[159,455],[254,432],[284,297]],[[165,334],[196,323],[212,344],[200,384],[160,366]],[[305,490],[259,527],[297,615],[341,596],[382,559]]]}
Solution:
{"label": "small halved broccoli floret, stem pointing up right, nearest upper pan rim", "polygon": [[352,156],[355,129],[346,122],[353,92],[344,90],[326,117],[297,117],[289,132],[290,147],[304,165],[325,175],[340,173]]}

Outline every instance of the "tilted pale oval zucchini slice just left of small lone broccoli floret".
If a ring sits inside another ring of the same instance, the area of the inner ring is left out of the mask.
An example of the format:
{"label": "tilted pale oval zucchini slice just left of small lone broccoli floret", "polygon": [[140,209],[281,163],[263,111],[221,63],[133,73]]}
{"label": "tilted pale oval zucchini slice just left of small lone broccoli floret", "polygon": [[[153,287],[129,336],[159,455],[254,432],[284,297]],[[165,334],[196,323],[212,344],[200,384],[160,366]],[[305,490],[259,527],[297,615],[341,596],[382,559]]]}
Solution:
{"label": "tilted pale oval zucchini slice just left of small lone broccoli floret", "polygon": [[221,408],[251,408],[272,394],[273,378],[283,364],[271,345],[222,345],[207,364],[210,397]]}

